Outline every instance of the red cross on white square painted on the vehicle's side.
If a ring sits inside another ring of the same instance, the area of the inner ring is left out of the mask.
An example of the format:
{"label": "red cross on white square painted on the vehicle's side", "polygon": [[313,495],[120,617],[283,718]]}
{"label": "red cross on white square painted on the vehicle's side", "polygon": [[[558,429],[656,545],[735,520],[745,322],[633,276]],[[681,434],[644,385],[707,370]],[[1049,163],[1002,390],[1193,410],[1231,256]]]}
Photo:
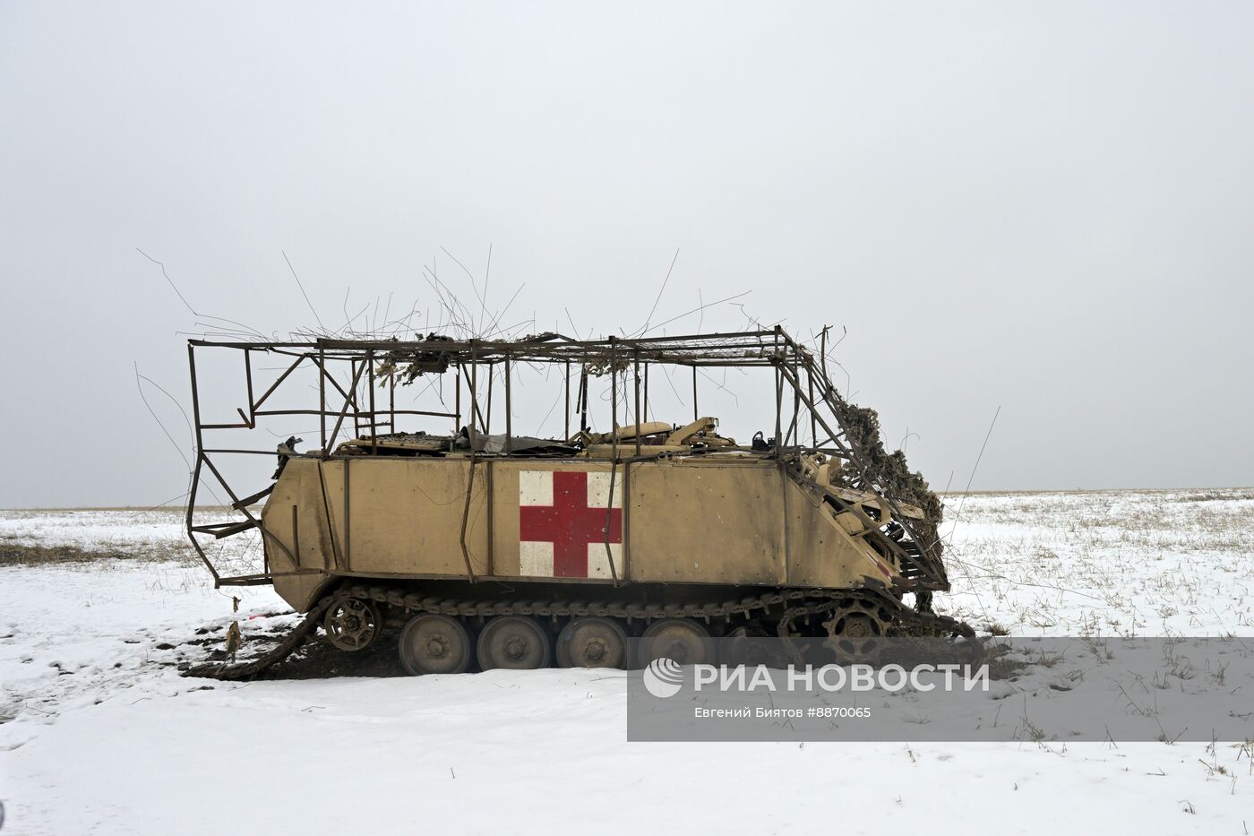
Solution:
{"label": "red cross on white square painted on the vehicle's side", "polygon": [[[591,480],[589,480],[591,476]],[[622,507],[609,473],[523,471],[518,474],[518,541],[523,576],[611,577],[622,571]]]}

